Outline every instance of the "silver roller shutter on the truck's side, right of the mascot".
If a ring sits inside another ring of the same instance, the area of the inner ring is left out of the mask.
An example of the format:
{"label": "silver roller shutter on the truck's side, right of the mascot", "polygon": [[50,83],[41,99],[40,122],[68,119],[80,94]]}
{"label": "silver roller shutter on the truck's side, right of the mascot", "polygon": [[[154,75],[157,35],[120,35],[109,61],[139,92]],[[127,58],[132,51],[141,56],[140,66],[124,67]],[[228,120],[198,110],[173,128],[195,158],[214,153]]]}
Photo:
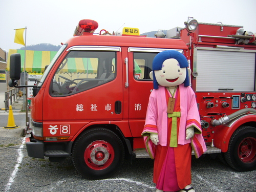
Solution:
{"label": "silver roller shutter on the truck's side, right of the mascot", "polygon": [[255,53],[197,50],[197,91],[254,91]]}

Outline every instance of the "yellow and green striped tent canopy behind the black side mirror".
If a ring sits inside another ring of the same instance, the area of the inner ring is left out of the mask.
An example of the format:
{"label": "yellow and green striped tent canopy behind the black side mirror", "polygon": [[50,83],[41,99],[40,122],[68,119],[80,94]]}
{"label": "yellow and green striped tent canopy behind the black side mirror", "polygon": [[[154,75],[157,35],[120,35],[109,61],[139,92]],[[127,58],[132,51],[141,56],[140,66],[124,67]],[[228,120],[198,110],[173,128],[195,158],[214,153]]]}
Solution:
{"label": "yellow and green striped tent canopy behind the black side mirror", "polygon": [[[10,71],[10,55],[19,53],[21,57],[21,72],[24,72],[25,50],[10,49],[7,60],[7,71]],[[44,73],[57,51],[26,51],[26,72]]]}

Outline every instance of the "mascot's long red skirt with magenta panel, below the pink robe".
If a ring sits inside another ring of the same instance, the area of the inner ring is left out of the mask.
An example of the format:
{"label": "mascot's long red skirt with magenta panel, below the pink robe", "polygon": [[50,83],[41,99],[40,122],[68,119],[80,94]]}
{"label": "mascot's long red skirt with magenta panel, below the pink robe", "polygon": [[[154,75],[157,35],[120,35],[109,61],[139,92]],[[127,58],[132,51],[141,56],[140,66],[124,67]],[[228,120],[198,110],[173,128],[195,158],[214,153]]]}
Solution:
{"label": "mascot's long red skirt with magenta panel, below the pink robe", "polygon": [[157,145],[153,182],[163,191],[177,191],[191,184],[190,143],[169,147]]}

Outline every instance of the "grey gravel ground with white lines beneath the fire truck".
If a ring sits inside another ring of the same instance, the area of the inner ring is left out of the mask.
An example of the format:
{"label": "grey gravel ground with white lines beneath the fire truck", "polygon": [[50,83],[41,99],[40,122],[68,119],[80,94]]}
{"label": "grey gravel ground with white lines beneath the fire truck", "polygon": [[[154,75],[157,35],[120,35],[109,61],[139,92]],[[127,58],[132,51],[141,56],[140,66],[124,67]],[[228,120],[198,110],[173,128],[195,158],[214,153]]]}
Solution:
{"label": "grey gravel ground with white lines beneath the fire truck", "polygon": [[[76,172],[71,158],[60,164],[28,157],[26,149],[18,149],[25,148],[23,139],[0,137],[0,191],[155,191],[151,159],[135,159],[133,165],[125,161],[109,179],[86,180]],[[192,185],[198,192],[255,192],[256,170],[240,173],[210,156],[193,157]]]}

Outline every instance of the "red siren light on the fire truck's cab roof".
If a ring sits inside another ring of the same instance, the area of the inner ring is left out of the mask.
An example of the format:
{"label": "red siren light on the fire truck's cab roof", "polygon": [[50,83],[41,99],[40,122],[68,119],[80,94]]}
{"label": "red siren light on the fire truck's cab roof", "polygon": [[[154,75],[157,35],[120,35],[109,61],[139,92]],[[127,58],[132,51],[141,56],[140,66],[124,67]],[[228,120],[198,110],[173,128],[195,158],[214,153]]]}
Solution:
{"label": "red siren light on the fire truck's cab roof", "polygon": [[98,28],[98,23],[95,20],[83,19],[80,20],[78,26],[76,26],[74,36],[82,35],[85,33],[93,33]]}

